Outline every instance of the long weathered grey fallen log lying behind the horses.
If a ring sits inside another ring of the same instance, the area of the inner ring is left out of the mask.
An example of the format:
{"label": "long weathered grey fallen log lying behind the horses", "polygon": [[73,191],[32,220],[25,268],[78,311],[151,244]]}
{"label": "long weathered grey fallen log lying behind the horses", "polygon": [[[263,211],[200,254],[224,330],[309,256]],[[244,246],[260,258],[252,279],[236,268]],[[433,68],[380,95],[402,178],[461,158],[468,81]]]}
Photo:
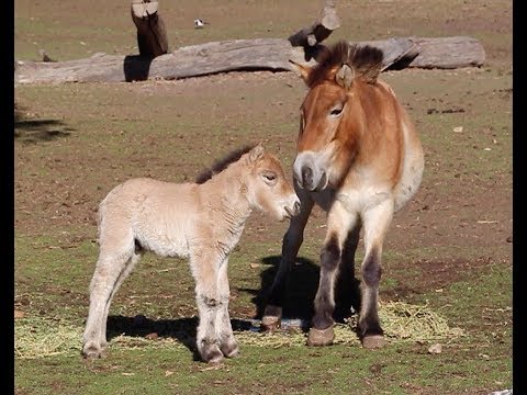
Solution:
{"label": "long weathered grey fallen log lying behind the horses", "polygon": [[[383,69],[479,67],[485,61],[481,43],[466,36],[394,37],[351,43],[382,49]],[[14,82],[122,82],[228,71],[287,71],[292,70],[289,59],[314,63],[303,47],[292,46],[288,40],[234,40],[181,47],[155,58],[96,54],[68,61],[18,61]]]}

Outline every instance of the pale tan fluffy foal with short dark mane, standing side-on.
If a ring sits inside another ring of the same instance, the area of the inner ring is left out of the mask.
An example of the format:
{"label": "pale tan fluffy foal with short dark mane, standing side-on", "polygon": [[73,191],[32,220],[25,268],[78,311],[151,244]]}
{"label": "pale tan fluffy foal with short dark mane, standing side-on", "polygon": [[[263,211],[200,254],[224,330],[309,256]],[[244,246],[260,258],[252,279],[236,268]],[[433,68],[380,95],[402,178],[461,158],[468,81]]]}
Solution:
{"label": "pale tan fluffy foal with short dark mane, standing side-on", "polygon": [[253,210],[277,219],[295,215],[300,201],[280,161],[261,145],[233,153],[218,172],[198,183],[138,178],[115,187],[99,206],[99,260],[90,284],[82,353],[106,347],[110,304],[119,286],[149,250],[189,258],[200,316],[197,347],[206,362],[238,353],[228,316],[228,255]]}

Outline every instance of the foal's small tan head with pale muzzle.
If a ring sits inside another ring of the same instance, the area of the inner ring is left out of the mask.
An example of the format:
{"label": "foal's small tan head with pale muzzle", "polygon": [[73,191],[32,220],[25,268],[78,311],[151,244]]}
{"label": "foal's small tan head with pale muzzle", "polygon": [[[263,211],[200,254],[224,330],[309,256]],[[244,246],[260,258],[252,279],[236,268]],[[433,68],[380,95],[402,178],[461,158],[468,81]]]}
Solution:
{"label": "foal's small tan head with pale muzzle", "polygon": [[271,154],[257,145],[246,154],[249,177],[247,196],[253,207],[283,221],[300,212],[300,200],[285,178],[282,165]]}

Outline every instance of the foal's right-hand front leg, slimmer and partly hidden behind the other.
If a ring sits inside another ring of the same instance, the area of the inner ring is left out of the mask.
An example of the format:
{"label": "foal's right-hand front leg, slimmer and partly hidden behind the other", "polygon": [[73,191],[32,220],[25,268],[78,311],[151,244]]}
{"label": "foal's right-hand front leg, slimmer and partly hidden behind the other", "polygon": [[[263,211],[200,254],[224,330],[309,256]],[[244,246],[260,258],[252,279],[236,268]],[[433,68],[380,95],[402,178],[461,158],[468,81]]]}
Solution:
{"label": "foal's right-hand front leg, slimmer and partly hidden behind the other", "polygon": [[218,269],[217,275],[217,294],[220,307],[216,316],[216,334],[220,341],[220,350],[227,358],[236,357],[239,352],[238,343],[233,335],[231,317],[228,315],[228,276],[227,276],[228,259],[225,259]]}

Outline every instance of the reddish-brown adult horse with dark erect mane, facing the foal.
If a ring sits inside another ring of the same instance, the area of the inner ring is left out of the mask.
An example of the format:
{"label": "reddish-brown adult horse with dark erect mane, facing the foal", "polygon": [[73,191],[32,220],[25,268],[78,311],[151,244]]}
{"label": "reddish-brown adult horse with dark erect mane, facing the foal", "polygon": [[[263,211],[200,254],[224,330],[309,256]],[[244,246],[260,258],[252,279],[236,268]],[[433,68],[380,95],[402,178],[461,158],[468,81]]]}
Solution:
{"label": "reddish-brown adult horse with dark erect mane, facing the foal", "polygon": [[365,348],[384,345],[378,316],[383,239],[393,213],[417,191],[424,169],[421,140],[393,90],[378,80],[381,50],[339,42],[313,68],[295,65],[309,87],[300,109],[293,165],[300,215],[283,237],[282,259],[262,328],[280,326],[289,273],[313,205],[327,212],[321,279],[307,345],[334,339],[335,286],[355,281],[355,251],[363,227],[365,259],[358,335]]}

